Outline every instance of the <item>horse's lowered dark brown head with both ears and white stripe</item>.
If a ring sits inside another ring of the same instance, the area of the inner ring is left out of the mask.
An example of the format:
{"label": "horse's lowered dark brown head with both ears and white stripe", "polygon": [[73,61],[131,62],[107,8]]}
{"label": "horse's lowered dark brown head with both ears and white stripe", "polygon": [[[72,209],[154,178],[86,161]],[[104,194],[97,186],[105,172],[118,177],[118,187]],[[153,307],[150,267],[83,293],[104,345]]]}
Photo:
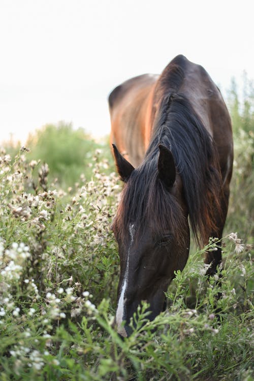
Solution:
{"label": "horse's lowered dark brown head with both ears and white stripe", "polygon": [[182,270],[188,258],[181,178],[171,151],[164,145],[158,148],[134,169],[113,145],[125,182],[113,222],[120,258],[116,324],[122,336],[131,333],[130,320],[141,301],[149,304],[150,320],[163,311],[174,271]]}

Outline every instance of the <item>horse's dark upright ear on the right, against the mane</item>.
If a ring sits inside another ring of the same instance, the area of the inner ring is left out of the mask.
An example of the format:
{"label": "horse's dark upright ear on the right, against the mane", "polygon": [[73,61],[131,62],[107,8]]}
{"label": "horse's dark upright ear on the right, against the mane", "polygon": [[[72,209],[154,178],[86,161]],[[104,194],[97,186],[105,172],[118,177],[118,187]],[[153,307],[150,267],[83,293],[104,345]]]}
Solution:
{"label": "horse's dark upright ear on the right, against the mane", "polygon": [[167,188],[171,188],[175,182],[176,168],[172,152],[162,144],[159,144],[160,156],[158,158],[158,177]]}

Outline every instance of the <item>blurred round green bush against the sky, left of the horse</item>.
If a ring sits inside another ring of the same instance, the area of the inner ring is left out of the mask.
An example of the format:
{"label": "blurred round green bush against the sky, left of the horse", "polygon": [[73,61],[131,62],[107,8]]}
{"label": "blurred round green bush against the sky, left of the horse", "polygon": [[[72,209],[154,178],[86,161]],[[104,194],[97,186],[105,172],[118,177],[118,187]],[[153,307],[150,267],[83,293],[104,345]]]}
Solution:
{"label": "blurred round green bush against the sky, left of the horse", "polygon": [[[56,177],[62,185],[75,183],[81,173],[90,179],[92,152],[102,148],[83,129],[74,130],[72,124],[63,122],[47,124],[35,134],[30,134],[26,146],[31,151],[28,158],[47,163],[49,179]],[[108,157],[108,146],[106,152]]]}

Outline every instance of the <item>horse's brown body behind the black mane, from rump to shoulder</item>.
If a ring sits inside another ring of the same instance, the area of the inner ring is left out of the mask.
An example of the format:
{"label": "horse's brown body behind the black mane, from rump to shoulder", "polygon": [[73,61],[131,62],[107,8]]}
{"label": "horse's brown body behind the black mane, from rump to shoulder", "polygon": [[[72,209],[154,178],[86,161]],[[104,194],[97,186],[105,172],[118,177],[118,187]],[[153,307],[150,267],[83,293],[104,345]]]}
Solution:
{"label": "horse's brown body behind the black mane, from rump to shoulder", "polygon": [[160,76],[141,75],[123,82],[111,92],[111,143],[116,144],[134,167],[138,166],[154,133],[160,105],[174,93],[189,101],[193,112],[213,138],[221,175],[229,184],[233,138],[227,106],[205,69],[183,55],[176,56]]}

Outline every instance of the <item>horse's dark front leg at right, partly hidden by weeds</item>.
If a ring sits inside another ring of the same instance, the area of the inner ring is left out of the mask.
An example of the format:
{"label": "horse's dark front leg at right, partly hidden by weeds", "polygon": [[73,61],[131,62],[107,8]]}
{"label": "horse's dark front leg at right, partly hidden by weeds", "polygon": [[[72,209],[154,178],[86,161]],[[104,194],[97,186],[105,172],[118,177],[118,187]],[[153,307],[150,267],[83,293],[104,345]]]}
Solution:
{"label": "horse's dark front leg at right, partly hidden by weeds", "polygon": [[221,238],[223,236],[223,229],[227,217],[229,206],[229,186],[222,192],[223,195],[220,199],[220,212],[217,213],[217,232],[211,232],[211,237],[218,238],[219,242],[216,245],[215,250],[207,251],[205,257],[205,263],[210,265],[207,269],[206,275],[211,276],[217,272],[217,267],[221,264]]}

